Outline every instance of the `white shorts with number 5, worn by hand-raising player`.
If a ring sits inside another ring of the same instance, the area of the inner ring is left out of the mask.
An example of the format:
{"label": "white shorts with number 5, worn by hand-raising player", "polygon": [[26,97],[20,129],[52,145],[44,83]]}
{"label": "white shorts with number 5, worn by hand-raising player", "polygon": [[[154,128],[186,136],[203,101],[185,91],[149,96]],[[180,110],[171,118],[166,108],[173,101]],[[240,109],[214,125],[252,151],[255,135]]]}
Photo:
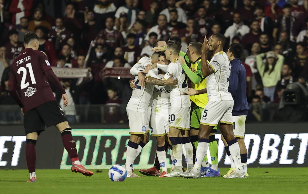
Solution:
{"label": "white shorts with number 5, worn by hand-raising player", "polygon": [[219,123],[227,123],[233,125],[233,101],[209,101],[201,114],[200,124],[217,126]]}

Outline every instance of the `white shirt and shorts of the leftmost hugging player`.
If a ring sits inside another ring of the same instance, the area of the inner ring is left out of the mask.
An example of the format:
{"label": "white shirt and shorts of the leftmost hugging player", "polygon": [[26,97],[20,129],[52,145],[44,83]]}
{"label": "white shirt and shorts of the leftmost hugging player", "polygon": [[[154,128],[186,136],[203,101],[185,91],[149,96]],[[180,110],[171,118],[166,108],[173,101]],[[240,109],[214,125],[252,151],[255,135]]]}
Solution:
{"label": "white shirt and shorts of the leftmost hugging player", "polygon": [[[141,87],[138,80],[138,72],[143,71],[144,68],[151,62],[144,62],[142,64],[135,64],[135,84],[136,88],[132,91],[132,96],[128,101],[126,111],[129,121],[129,134],[145,134],[149,132],[149,116],[148,109],[152,99],[154,85],[145,83],[145,87]],[[134,75],[131,72],[132,75]]]}

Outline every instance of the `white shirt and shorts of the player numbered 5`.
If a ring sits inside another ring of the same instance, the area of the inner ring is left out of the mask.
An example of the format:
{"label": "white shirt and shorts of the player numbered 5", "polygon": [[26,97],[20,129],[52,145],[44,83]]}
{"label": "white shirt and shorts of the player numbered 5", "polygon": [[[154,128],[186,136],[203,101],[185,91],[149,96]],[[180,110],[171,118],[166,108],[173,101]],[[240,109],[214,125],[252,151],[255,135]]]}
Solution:
{"label": "white shirt and shorts of the player numbered 5", "polygon": [[217,126],[219,123],[233,125],[233,98],[228,92],[231,64],[227,54],[217,52],[209,62],[214,73],[206,78],[209,102],[201,114],[200,124]]}

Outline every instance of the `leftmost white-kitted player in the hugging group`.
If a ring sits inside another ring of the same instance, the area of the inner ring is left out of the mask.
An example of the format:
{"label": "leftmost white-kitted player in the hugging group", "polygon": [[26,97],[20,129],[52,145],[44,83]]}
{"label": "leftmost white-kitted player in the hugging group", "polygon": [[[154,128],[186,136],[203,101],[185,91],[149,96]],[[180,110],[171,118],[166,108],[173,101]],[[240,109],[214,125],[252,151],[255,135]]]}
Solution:
{"label": "leftmost white-kitted player in the hugging group", "polygon": [[[139,64],[137,70],[141,72],[144,70],[146,65],[157,62],[158,55],[159,53],[153,53],[151,57],[152,58],[151,62]],[[136,72],[131,72],[131,73],[135,74]],[[129,121],[129,128],[130,128],[129,134],[131,135],[126,150],[125,169],[127,170],[127,177],[140,177],[132,172],[132,167],[137,156],[137,149],[139,149],[140,151],[142,149],[142,148],[140,149],[139,144],[142,140],[144,140],[144,136],[147,133],[146,126],[148,122],[148,107],[154,89],[154,85],[147,83],[145,83],[144,86],[141,86],[138,80],[138,76],[135,76],[135,80],[136,80],[135,82],[136,89],[132,92],[132,97],[128,101],[126,107],[128,121]],[[163,81],[165,85],[176,82],[177,81],[172,80],[172,78]]]}

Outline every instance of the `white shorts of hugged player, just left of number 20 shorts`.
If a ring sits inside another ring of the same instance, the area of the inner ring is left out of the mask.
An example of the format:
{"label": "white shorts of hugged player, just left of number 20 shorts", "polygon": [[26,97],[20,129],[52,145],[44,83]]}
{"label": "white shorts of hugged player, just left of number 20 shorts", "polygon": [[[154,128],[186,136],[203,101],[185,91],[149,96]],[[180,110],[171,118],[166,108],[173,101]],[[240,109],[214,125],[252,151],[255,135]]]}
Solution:
{"label": "white shorts of hugged player, just left of number 20 shorts", "polygon": [[169,113],[152,114],[151,116],[151,135],[154,137],[169,134]]}

